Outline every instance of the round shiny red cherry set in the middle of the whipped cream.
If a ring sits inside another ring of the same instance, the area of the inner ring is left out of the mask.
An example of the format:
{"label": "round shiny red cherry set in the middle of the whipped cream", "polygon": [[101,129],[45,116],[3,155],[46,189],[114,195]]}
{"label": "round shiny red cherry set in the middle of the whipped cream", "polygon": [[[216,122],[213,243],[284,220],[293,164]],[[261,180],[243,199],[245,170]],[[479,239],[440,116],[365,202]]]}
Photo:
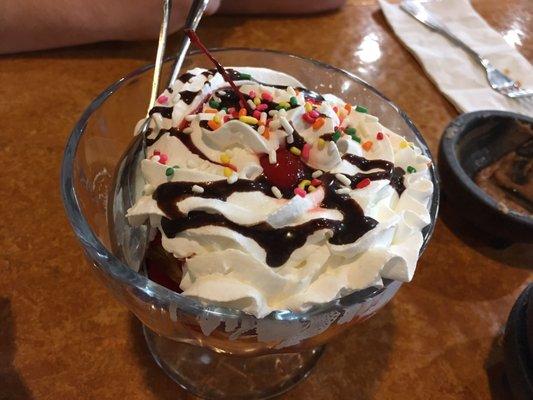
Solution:
{"label": "round shiny red cherry set in the middle of the whipped cream", "polygon": [[270,164],[268,154],[263,154],[259,158],[263,174],[267,180],[279,189],[291,189],[296,186],[304,177],[304,164],[299,157],[296,157],[285,148],[276,151],[277,162]]}

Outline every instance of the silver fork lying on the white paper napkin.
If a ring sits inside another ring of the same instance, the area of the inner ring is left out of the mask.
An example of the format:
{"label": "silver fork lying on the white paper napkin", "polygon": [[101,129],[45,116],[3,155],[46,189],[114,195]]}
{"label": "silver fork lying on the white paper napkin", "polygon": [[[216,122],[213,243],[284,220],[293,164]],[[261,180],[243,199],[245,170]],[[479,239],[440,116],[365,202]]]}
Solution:
{"label": "silver fork lying on the white paper napkin", "polygon": [[475,52],[470,46],[455,36],[441,21],[439,21],[434,15],[430,14],[420,3],[410,0],[403,1],[400,4],[400,8],[431,30],[440,33],[472,56],[474,60],[485,68],[487,80],[492,89],[512,99],[523,99],[533,96],[533,90],[522,89],[518,82],[509,78],[499,69],[494,67],[489,60]]}

